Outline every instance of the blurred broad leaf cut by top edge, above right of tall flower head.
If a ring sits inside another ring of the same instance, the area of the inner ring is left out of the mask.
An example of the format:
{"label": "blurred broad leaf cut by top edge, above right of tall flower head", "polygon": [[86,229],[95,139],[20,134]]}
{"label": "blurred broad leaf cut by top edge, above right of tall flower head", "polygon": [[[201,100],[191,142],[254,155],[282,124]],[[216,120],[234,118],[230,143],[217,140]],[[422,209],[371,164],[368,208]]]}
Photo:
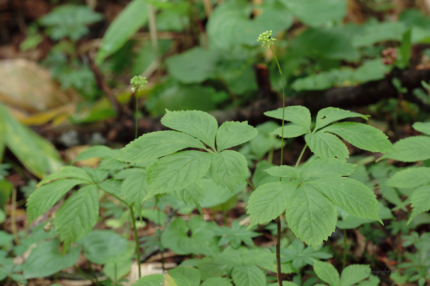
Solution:
{"label": "blurred broad leaf cut by top edge, above right of tall flower head", "polygon": [[312,27],[327,22],[341,22],[346,14],[347,3],[342,0],[282,0],[300,21]]}

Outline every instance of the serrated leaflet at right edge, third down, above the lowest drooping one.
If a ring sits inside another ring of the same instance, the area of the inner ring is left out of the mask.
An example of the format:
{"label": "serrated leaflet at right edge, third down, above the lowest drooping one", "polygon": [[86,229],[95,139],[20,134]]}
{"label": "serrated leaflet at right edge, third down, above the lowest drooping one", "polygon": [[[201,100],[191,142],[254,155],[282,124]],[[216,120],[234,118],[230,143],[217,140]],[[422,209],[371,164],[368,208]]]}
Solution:
{"label": "serrated leaflet at right edge, third down, above the lowest drooping one", "polygon": [[413,188],[430,183],[430,167],[409,168],[395,173],[385,184],[399,188]]}

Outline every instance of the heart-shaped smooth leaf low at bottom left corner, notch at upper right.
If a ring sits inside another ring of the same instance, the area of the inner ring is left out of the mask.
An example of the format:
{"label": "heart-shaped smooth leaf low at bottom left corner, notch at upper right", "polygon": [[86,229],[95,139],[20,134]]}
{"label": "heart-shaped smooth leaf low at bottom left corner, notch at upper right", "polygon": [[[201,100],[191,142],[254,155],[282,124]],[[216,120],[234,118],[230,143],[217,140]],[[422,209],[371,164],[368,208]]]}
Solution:
{"label": "heart-shaped smooth leaf low at bottom left corner, notch at upper right", "polygon": [[79,247],[71,247],[69,253],[62,256],[58,251],[59,246],[58,239],[41,242],[37,245],[26,259],[23,269],[24,277],[26,279],[46,277],[72,267],[79,258]]}

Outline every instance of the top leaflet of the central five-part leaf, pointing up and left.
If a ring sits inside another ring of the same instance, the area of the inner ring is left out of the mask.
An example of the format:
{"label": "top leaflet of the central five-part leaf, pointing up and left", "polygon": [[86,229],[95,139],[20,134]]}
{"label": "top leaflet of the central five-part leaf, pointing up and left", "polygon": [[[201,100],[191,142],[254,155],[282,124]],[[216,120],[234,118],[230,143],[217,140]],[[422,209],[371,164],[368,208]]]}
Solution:
{"label": "top leaflet of the central five-part leaf, pointing up and left", "polygon": [[215,149],[215,136],[218,122],[209,113],[198,110],[168,111],[161,118],[164,126],[196,137],[204,144]]}

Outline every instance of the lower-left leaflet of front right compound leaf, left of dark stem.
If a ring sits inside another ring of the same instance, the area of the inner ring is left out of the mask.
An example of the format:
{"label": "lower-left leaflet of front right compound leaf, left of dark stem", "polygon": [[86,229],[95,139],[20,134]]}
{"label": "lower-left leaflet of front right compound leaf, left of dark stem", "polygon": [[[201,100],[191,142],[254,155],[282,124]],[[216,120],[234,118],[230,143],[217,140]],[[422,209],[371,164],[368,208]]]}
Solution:
{"label": "lower-left leaflet of front right compound leaf, left of dark stem", "polygon": [[256,188],[246,206],[251,218],[248,229],[276,219],[287,208],[289,197],[296,188],[296,182],[285,181],[267,183]]}

